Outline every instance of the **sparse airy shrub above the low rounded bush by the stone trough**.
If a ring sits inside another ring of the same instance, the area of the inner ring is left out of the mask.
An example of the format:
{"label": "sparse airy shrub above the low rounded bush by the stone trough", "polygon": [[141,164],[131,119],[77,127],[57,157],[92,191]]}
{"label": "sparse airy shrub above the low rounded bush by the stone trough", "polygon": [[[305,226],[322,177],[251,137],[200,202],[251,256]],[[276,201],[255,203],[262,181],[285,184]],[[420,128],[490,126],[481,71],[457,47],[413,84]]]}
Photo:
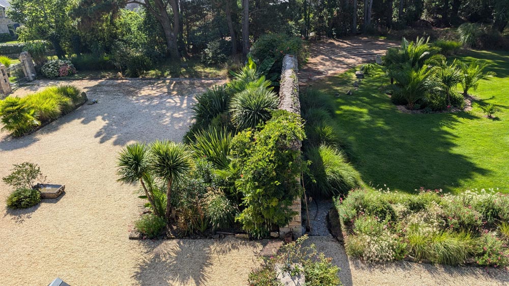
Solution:
{"label": "sparse airy shrub above the low rounded bush by the stone trough", "polygon": [[14,164],[11,174],[2,180],[14,188],[32,188],[36,182],[44,183],[46,177],[42,175],[41,167],[30,162]]}

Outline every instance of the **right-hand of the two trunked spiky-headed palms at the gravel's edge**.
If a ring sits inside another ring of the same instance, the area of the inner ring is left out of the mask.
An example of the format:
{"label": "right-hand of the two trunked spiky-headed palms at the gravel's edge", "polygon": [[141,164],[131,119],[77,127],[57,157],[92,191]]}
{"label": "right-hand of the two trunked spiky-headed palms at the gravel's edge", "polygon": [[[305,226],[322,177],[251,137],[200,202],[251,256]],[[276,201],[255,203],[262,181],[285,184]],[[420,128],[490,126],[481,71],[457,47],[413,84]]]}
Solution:
{"label": "right-hand of the two trunked spiky-headed palms at the gravel's edge", "polygon": [[166,182],[166,213],[172,214],[172,183],[182,179],[191,169],[191,152],[182,143],[155,141],[150,145],[152,153],[150,169]]}

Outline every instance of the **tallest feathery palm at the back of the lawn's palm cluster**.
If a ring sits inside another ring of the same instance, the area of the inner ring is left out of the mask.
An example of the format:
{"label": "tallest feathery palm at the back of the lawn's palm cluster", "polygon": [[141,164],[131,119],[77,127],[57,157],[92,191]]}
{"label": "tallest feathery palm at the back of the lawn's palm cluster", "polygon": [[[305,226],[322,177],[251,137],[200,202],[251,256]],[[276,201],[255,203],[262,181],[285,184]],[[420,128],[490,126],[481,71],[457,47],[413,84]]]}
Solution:
{"label": "tallest feathery palm at the back of the lawn's palm cluster", "polygon": [[436,65],[444,58],[439,54],[440,48],[430,46],[430,38],[417,37],[414,42],[408,42],[403,38],[401,47],[388,49],[383,57],[384,70],[391,78],[393,84],[394,75],[399,73],[404,66],[410,65],[418,70],[424,65]]}

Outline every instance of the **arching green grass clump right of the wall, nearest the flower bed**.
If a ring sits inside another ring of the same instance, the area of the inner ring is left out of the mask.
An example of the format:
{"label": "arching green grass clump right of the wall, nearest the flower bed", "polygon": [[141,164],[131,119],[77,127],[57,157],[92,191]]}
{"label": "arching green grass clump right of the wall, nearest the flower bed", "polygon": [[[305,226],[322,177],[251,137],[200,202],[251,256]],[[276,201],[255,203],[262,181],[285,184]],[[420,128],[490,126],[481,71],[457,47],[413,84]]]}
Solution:
{"label": "arching green grass clump right of the wall, nearest the flower bed", "polygon": [[360,174],[348,163],[345,153],[334,147],[310,147],[304,156],[311,161],[304,185],[312,196],[331,197],[348,192],[360,182]]}

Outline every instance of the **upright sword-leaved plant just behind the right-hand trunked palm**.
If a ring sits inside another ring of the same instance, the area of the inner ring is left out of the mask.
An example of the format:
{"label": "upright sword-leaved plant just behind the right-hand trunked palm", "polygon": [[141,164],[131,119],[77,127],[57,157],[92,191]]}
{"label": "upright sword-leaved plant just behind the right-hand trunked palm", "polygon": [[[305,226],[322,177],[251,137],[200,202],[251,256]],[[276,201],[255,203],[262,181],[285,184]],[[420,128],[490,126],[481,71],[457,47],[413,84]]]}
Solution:
{"label": "upright sword-leaved plant just behind the right-hand trunked palm", "polygon": [[194,143],[190,146],[196,157],[205,157],[216,168],[228,168],[231,161],[228,154],[232,142],[232,133],[226,129],[211,128],[195,132],[194,137]]}

